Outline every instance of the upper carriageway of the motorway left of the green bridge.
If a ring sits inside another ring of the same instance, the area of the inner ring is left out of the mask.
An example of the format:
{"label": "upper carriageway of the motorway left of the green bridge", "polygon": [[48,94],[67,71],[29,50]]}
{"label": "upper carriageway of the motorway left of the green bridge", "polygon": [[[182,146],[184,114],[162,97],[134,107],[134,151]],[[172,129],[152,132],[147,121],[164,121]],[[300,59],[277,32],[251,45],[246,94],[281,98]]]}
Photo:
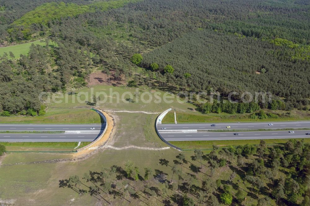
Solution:
{"label": "upper carriageway of the motorway left of the green bridge", "polygon": [[[1,124],[0,131],[100,131],[104,124]],[[104,129],[104,128],[103,128]]]}

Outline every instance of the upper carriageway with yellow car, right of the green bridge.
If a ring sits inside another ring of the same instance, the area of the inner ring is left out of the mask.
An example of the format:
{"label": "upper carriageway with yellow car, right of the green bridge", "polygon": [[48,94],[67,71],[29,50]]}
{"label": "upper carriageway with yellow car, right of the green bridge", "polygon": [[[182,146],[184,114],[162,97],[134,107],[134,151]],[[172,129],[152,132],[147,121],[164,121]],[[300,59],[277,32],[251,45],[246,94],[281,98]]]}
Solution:
{"label": "upper carriageway with yellow car, right of the green bridge", "polygon": [[[283,128],[310,128],[310,121],[295,122],[236,122],[236,123],[187,123],[187,124],[158,124],[158,130],[165,127],[167,130],[219,130],[227,129],[283,129]],[[268,126],[273,124],[273,126]]]}

